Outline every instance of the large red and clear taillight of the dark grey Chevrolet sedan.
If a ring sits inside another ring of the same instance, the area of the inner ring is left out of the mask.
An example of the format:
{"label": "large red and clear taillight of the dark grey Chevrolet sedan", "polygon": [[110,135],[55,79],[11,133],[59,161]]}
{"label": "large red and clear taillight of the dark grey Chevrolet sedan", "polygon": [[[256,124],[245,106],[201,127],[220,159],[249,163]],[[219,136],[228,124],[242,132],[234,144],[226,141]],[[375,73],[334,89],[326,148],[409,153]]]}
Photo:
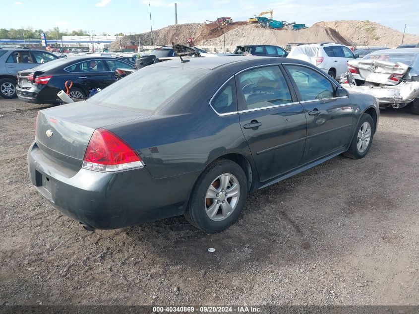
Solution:
{"label": "large red and clear taillight of the dark grey Chevrolet sedan", "polygon": [[93,132],[83,158],[83,168],[118,171],[144,167],[140,156],[118,135],[103,128]]}

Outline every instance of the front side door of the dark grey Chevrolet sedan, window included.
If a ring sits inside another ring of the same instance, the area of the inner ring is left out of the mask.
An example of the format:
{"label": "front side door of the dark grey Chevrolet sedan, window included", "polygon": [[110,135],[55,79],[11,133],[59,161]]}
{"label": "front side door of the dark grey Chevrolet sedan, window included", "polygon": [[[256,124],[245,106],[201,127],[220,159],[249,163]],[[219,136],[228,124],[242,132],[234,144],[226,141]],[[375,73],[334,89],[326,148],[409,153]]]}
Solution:
{"label": "front side door of the dark grey Chevrolet sedan, window included", "polygon": [[352,138],[353,105],[335,96],[336,85],[326,74],[305,65],[285,64],[307,120],[301,164],[343,149]]}

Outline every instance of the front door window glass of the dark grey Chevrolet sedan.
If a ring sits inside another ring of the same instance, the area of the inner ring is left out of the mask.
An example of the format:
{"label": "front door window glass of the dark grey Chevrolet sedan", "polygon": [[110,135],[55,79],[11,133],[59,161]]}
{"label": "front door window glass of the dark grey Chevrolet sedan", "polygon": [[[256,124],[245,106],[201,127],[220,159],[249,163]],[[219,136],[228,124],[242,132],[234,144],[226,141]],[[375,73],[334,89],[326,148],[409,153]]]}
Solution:
{"label": "front door window glass of the dark grey Chevrolet sedan", "polygon": [[331,98],[334,96],[332,83],[320,73],[299,65],[286,65],[296,82],[302,101]]}

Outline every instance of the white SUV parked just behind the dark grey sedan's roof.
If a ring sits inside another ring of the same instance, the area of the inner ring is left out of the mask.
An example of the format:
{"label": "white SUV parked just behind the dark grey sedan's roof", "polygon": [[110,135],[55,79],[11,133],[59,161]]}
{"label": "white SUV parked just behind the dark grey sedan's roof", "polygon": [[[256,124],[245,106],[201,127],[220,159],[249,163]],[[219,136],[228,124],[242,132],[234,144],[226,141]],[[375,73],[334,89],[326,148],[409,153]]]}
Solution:
{"label": "white SUV parked just behind the dark grey sedan's roof", "polygon": [[348,70],[348,61],[355,55],[341,44],[306,44],[293,47],[287,58],[299,59],[318,66],[333,78],[341,77]]}

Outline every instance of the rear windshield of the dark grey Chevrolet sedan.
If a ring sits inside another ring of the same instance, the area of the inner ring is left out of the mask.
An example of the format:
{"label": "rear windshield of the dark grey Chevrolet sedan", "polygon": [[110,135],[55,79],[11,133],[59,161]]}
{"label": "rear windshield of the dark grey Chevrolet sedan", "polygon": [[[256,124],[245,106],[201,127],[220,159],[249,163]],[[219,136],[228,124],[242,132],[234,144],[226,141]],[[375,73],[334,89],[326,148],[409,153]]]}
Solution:
{"label": "rear windshield of the dark grey Chevrolet sedan", "polygon": [[98,105],[156,111],[208,70],[181,67],[144,67],[108,86],[87,101]]}

